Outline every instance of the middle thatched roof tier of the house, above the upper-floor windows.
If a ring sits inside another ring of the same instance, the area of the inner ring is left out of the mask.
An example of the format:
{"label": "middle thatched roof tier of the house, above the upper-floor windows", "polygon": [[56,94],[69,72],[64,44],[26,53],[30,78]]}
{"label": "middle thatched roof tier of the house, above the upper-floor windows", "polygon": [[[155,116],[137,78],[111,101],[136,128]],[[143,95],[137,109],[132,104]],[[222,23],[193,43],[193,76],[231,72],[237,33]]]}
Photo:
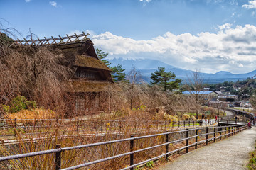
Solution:
{"label": "middle thatched roof tier of the house, above the upper-floor windows", "polygon": [[105,69],[111,71],[111,69],[107,67],[102,61],[88,55],[78,55],[76,57],[74,66],[91,67],[95,69]]}

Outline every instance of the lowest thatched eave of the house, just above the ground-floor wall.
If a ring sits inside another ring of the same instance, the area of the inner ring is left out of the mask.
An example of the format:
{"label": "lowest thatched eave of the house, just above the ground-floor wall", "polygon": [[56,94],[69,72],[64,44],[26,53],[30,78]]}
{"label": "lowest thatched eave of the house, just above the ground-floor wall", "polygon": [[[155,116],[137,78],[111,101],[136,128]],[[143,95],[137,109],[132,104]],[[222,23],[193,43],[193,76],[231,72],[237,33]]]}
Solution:
{"label": "lowest thatched eave of the house, just above the ground-floor wall", "polygon": [[109,91],[113,84],[107,81],[70,81],[69,92],[100,92]]}

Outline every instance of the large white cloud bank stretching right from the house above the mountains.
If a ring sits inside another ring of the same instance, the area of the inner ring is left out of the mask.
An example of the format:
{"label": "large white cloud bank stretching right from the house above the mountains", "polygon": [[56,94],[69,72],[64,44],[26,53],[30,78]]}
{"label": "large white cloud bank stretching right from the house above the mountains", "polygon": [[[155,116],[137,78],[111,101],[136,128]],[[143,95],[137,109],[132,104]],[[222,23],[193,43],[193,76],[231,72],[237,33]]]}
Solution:
{"label": "large white cloud bank stretching right from the house above the mountains", "polygon": [[202,68],[216,72],[225,68],[231,72],[249,72],[255,69],[256,27],[235,26],[230,23],[218,27],[217,33],[198,35],[166,32],[151,40],[134,40],[105,32],[90,36],[95,46],[108,52],[109,57],[151,58],[162,60],[183,69]]}

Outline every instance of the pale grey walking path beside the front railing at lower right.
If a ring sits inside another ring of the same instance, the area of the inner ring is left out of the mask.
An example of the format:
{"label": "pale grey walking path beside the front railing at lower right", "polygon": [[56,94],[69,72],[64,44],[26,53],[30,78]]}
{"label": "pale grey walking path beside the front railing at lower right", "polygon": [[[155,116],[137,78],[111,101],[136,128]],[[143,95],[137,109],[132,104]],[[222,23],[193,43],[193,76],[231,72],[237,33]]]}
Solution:
{"label": "pale grey walking path beside the front railing at lower right", "polygon": [[159,167],[159,170],[242,170],[247,169],[249,152],[254,149],[256,128],[244,130],[237,135],[183,154],[174,162]]}

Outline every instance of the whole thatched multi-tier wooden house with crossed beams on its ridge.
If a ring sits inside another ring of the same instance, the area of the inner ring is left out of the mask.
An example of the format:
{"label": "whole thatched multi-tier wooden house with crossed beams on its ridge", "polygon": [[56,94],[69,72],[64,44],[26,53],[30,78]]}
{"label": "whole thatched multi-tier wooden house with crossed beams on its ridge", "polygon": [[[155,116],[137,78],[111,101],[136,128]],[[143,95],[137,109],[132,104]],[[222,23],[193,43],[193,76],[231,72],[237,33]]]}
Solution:
{"label": "whole thatched multi-tier wooden house with crossed beams on its ridge", "polygon": [[[87,34],[88,35],[88,34]],[[85,33],[59,38],[16,40],[10,47],[23,45],[59,49],[65,55],[65,65],[74,70],[66,90],[73,96],[73,111],[92,114],[107,107],[107,91],[113,84],[111,69],[96,55],[93,43]]]}

